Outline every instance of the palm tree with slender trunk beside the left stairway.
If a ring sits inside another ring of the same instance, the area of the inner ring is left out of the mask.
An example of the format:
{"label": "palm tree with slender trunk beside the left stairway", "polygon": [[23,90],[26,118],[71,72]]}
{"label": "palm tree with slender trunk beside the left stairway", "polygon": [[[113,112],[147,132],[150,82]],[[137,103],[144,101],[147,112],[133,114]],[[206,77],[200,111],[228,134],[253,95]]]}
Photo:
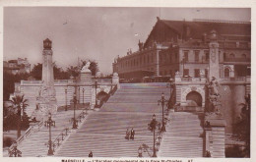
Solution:
{"label": "palm tree with slender trunk beside the left stairway", "polygon": [[25,99],[24,95],[15,95],[14,97],[12,97],[11,102],[14,104],[15,108],[17,108],[17,138],[19,138],[21,136],[22,112],[24,115],[25,109],[28,106],[28,99]]}

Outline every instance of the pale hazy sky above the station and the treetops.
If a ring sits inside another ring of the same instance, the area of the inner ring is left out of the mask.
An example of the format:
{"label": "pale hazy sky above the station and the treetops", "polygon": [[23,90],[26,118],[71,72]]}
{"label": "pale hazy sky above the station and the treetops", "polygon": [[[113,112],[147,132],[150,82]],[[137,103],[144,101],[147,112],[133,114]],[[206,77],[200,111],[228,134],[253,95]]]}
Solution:
{"label": "pale hazy sky above the station and the treetops", "polygon": [[138,50],[162,20],[193,19],[251,21],[246,8],[153,7],[4,7],[3,60],[42,61],[42,41],[52,40],[53,61],[64,70],[78,58],[95,60],[100,73],[112,73],[112,63],[128,49]]}

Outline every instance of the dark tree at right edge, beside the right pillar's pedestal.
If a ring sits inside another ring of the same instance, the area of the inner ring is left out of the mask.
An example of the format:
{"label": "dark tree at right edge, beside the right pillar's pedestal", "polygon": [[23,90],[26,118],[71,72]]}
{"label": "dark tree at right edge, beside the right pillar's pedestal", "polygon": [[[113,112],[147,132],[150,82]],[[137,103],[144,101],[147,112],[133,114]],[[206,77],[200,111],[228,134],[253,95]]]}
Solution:
{"label": "dark tree at right edge, beside the right pillar's pedestal", "polygon": [[245,147],[242,150],[244,157],[250,157],[250,119],[251,119],[251,97],[248,94],[245,97],[245,103],[240,103],[242,106],[240,117],[238,118],[234,134],[237,136],[238,140],[245,141]]}

